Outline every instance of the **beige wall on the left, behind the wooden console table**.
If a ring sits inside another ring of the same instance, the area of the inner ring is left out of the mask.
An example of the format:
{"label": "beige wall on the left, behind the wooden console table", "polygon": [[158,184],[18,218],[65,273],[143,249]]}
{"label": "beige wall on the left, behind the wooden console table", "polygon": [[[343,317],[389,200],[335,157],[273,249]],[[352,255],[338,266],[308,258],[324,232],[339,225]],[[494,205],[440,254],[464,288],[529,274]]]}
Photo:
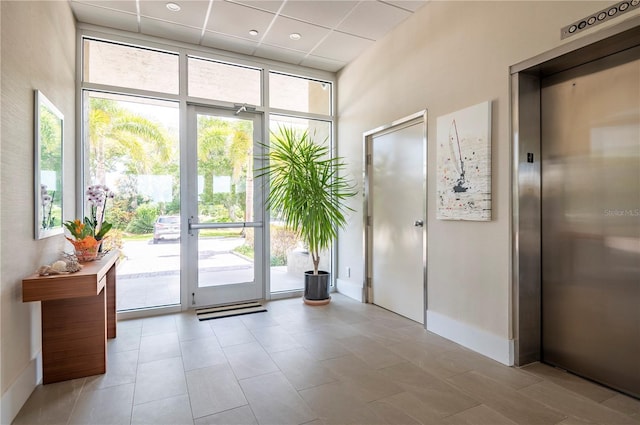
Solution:
{"label": "beige wall on the left, behind the wooden console table", "polygon": [[39,372],[40,303],[22,302],[22,278],[58,259],[62,235],[34,240],[34,89],[64,114],[64,215],[75,213],[75,20],[67,2],[1,1],[0,423],[10,423]]}

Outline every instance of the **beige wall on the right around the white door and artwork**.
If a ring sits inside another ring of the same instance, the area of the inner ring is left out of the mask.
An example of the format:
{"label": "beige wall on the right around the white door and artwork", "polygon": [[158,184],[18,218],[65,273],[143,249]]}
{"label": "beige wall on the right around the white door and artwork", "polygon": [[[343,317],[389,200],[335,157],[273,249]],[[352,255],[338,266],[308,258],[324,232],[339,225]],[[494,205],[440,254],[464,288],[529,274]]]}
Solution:
{"label": "beige wall on the right around the white door and artwork", "polygon": [[[512,361],[509,66],[561,45],[563,26],[609,5],[431,1],[338,74],[338,151],[354,176],[362,176],[363,132],[428,110],[427,327],[503,363]],[[436,119],[486,100],[493,103],[493,220],[436,220]],[[356,220],[340,235],[338,290],[357,294],[362,200],[351,206]]]}

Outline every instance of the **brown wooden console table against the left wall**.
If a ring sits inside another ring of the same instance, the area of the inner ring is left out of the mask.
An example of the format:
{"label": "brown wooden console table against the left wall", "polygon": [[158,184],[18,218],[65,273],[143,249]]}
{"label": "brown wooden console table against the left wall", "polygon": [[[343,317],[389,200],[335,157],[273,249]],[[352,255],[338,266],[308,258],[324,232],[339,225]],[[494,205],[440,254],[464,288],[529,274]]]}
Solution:
{"label": "brown wooden console table against the left wall", "polygon": [[107,338],[116,337],[118,251],[79,272],[22,280],[22,301],[42,302],[43,383],[107,371]]}

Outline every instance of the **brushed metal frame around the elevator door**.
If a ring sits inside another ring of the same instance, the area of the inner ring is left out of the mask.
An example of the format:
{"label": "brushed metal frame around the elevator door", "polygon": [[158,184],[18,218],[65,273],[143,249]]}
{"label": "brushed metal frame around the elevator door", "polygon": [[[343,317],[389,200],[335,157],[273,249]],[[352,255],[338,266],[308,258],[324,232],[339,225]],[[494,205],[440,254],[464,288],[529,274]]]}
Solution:
{"label": "brushed metal frame around the elevator door", "polygon": [[510,68],[512,326],[517,366],[539,361],[542,353],[540,82],[639,46],[640,16],[635,16]]}

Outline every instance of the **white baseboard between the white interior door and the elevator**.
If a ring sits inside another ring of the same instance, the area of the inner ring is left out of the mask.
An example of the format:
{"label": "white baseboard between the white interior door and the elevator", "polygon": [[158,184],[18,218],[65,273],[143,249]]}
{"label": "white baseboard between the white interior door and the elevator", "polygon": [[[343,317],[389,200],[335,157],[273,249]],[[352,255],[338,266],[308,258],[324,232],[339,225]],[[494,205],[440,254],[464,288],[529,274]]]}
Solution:
{"label": "white baseboard between the white interior door and the elevator", "polygon": [[513,366],[514,343],[490,332],[427,311],[427,330],[507,366]]}

